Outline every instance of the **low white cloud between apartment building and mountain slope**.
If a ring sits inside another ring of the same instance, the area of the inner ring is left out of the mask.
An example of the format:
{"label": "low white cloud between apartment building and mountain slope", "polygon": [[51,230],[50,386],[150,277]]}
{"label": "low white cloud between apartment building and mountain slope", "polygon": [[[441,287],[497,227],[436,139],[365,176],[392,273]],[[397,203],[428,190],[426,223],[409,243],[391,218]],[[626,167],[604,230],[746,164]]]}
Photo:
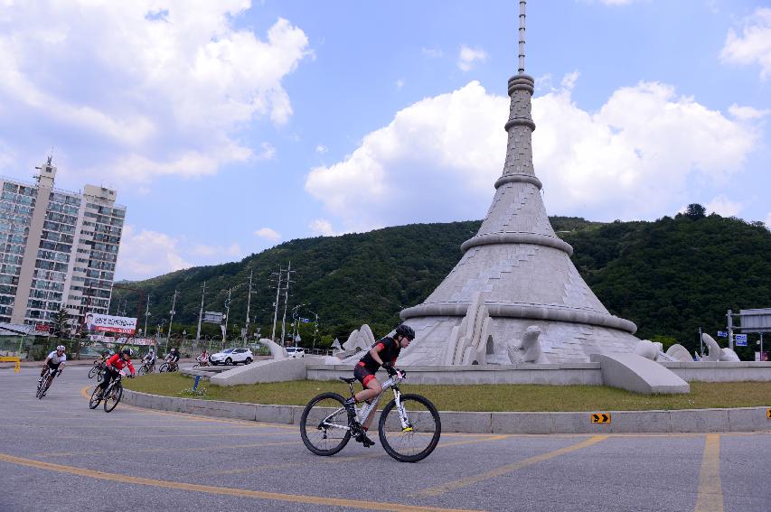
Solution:
{"label": "low white cloud between apartment building and mountain slope", "polygon": [[121,279],[144,279],[193,266],[180,255],[179,240],[164,233],[123,228],[117,272]]}

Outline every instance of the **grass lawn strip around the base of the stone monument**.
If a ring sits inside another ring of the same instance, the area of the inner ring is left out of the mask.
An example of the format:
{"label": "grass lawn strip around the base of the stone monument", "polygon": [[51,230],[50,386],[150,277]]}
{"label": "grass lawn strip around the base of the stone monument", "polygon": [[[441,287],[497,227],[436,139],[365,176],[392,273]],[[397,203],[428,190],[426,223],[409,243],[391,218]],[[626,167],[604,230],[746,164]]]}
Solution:
{"label": "grass lawn strip around the base of the stone monument", "polygon": [[[193,378],[178,373],[124,380],[135,391],[252,404],[306,405],[314,396],[334,391],[348,396],[342,382],[297,380],[249,386],[212,386],[201,381],[205,396],[192,396]],[[357,391],[361,386],[356,388]],[[711,407],[771,407],[771,382],[691,382],[689,395],[636,395],[607,386],[536,385],[415,385],[403,393],[427,396],[440,411],[640,411],[648,409],[707,409]],[[388,392],[388,396],[392,396]]]}

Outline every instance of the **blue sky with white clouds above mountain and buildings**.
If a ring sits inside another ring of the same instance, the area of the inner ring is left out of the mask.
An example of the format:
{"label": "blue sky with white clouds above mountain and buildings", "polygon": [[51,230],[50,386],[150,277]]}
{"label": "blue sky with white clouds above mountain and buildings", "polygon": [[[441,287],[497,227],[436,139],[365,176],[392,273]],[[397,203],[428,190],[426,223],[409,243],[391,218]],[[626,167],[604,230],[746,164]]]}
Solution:
{"label": "blue sky with white clouds above mountain and buildings", "polygon": [[[118,190],[118,277],[482,219],[518,3],[0,0],[0,173]],[[527,7],[550,215],[771,225],[771,4]]]}

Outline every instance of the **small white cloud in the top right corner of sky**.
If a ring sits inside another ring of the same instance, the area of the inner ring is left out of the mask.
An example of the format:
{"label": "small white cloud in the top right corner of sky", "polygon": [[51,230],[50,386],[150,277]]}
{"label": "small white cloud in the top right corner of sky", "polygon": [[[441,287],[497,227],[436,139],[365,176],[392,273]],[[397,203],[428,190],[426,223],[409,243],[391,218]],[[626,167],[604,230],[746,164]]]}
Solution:
{"label": "small white cloud in the top right corner of sky", "polygon": [[735,64],[757,63],[761,79],[771,76],[771,8],[758,7],[747,16],[740,34],[729,29],[720,59]]}

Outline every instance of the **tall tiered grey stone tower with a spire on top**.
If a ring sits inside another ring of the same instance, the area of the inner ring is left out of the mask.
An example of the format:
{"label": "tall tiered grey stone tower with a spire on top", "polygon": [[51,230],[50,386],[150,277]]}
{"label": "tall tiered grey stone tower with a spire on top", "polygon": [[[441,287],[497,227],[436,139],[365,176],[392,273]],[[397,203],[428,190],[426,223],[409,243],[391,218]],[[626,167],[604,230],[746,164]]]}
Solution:
{"label": "tall tiered grey stone tower with a spire on top", "polygon": [[609,314],[573,263],[573,248],[551,228],[532,166],[531,97],[534,80],[524,74],[525,1],[520,2],[519,73],[509,79],[511,108],[503,175],[479,232],[461,246],[463,257],[424,303],[401,312],[417,332],[400,364],[440,365],[453,327],[460,325],[475,294],[489,312],[488,361],[503,358],[512,340],[530,325],[541,329],[550,362],[585,362],[589,355],[631,352],[635,324]]}

